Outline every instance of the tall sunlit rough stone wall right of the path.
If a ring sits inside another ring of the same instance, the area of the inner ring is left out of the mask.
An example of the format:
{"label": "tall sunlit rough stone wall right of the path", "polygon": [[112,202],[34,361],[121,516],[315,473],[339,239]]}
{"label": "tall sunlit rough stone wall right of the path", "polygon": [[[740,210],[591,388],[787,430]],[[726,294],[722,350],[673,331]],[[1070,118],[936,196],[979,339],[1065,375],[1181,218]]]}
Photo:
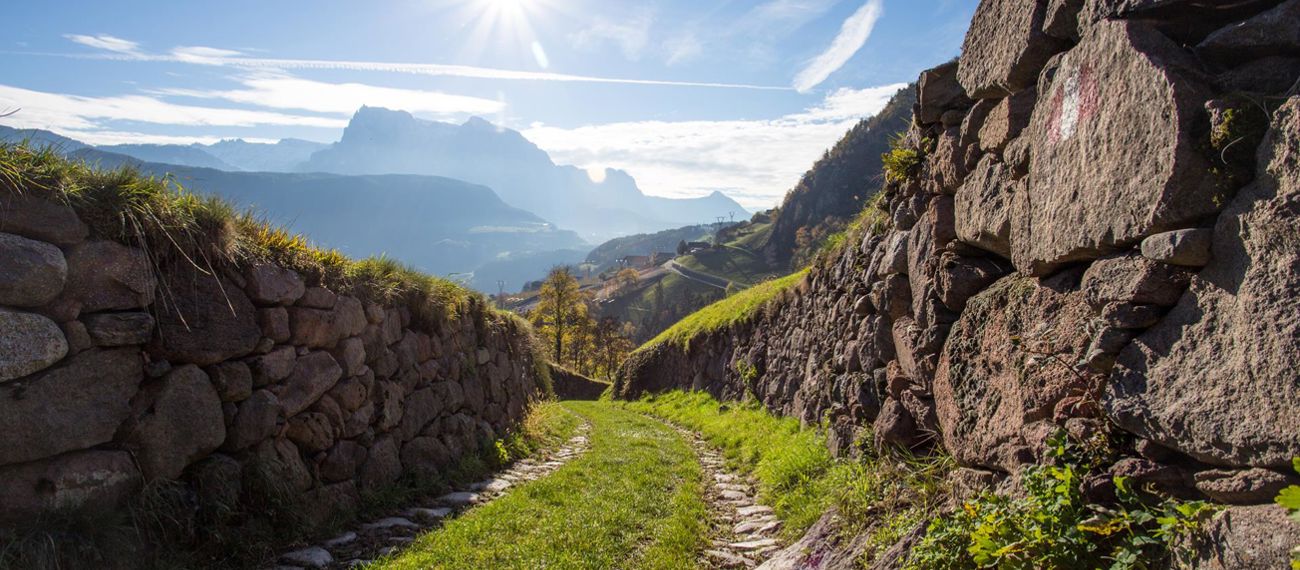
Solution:
{"label": "tall sunlit rough stone wall right of the path", "polygon": [[1060,428],[1117,429],[1112,474],[1269,502],[1300,455],[1296,22],[1300,0],[983,1],[919,78],[889,229],[636,354],[620,394],[753,393],[840,452],[870,428],[994,479]]}

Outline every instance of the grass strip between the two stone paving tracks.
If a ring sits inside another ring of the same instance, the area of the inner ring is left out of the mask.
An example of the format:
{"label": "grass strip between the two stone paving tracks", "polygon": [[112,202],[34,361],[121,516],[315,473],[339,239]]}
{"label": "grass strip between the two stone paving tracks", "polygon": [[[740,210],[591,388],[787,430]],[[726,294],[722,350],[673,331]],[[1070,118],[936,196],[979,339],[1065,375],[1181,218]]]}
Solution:
{"label": "grass strip between the two stone paving tracks", "polygon": [[607,402],[563,406],[592,423],[586,453],[369,567],[694,567],[707,513],[690,445]]}

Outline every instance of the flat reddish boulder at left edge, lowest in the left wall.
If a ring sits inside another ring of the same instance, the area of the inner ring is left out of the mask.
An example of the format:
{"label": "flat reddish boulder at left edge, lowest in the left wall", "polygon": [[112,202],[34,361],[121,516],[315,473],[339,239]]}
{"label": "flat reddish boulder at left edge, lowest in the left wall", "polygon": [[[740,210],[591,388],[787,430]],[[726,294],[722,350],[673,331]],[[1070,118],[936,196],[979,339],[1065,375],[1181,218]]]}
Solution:
{"label": "flat reddish boulder at left edge, lowest in the left wall", "polygon": [[29,522],[55,511],[107,511],[139,487],[140,474],[126,452],[74,452],[0,467],[0,522]]}

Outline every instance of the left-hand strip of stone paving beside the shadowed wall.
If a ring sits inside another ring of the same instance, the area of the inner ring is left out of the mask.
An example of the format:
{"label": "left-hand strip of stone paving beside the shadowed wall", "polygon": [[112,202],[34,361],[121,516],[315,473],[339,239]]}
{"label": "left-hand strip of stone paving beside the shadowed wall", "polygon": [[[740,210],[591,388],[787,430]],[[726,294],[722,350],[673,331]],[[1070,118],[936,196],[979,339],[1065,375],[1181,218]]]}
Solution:
{"label": "left-hand strip of stone paving beside the shadowed wall", "polygon": [[560,448],[541,457],[520,459],[491,479],[463,485],[441,497],[360,523],[356,528],[316,545],[285,553],[280,557],[280,566],[273,570],[352,569],[390,554],[415,541],[416,536],[437,528],[446,518],[498,498],[515,485],[550,475],[581,455],[588,446],[589,429],[590,424],[582,423],[577,435]]}

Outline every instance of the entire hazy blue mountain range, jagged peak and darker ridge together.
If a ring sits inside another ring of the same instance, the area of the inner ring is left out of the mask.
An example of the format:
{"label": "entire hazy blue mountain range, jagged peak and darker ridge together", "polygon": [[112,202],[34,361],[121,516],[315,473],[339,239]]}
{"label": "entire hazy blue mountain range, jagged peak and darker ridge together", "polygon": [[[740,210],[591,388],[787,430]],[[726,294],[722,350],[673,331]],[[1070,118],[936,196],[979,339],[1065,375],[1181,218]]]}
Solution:
{"label": "entire hazy blue mountain range, jagged peak and darker ridge together", "polygon": [[647,197],[623,170],[607,169],[595,182],[584,169],[556,165],[519,131],[477,117],[455,125],[363,107],[333,144],[95,147],[0,126],[0,141],[23,139],[105,168],[170,174],[321,245],[391,255],[438,275],[472,275],[471,285],[486,292],[495,292],[498,280],[517,289],[540,268],[581,260],[593,242],[744,212],[720,193]]}

